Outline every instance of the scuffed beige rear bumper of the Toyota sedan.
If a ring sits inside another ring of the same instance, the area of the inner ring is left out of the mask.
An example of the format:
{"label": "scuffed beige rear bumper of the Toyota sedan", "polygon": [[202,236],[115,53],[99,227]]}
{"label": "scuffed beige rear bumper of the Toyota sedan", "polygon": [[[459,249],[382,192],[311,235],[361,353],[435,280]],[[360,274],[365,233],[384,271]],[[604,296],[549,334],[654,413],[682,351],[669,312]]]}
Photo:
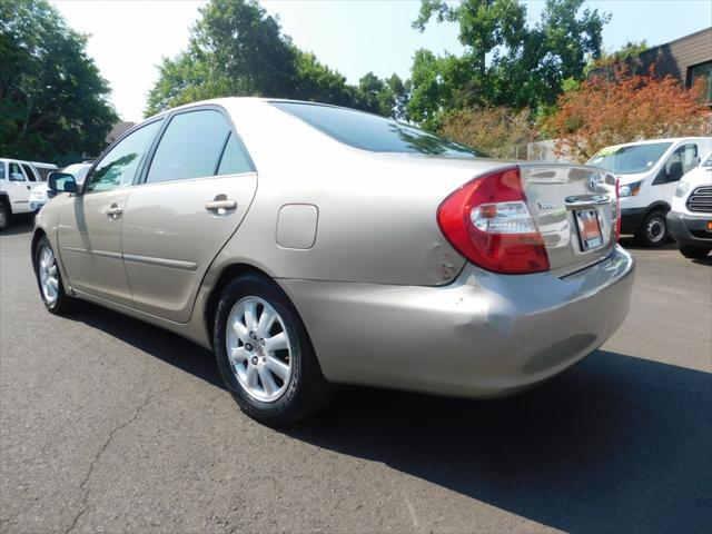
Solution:
{"label": "scuffed beige rear bumper of the Toyota sedan", "polygon": [[441,287],[279,280],[327,379],[487,397],[542,382],[601,346],[627,314],[621,247],[558,278],[468,265]]}

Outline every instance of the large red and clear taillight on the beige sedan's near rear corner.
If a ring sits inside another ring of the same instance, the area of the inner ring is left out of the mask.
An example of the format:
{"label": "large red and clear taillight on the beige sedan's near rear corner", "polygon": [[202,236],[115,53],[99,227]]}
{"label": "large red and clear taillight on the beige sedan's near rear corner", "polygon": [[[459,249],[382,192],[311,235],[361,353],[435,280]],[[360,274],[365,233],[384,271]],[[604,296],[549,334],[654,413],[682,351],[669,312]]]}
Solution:
{"label": "large red and clear taillight on the beige sedan's near rear corner", "polygon": [[548,270],[544,239],[526,205],[520,168],[476,178],[437,210],[447,240],[487,270],[522,275]]}

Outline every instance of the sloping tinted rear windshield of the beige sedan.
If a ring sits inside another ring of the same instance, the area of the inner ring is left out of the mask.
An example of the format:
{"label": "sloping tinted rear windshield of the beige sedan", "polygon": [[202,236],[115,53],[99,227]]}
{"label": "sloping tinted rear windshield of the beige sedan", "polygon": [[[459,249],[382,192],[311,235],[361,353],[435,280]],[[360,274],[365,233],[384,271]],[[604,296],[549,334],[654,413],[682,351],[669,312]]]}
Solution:
{"label": "sloping tinted rear windshield of the beige sedan", "polygon": [[415,152],[465,158],[484,154],[413,126],[346,108],[299,102],[270,102],[337,141],[374,152]]}

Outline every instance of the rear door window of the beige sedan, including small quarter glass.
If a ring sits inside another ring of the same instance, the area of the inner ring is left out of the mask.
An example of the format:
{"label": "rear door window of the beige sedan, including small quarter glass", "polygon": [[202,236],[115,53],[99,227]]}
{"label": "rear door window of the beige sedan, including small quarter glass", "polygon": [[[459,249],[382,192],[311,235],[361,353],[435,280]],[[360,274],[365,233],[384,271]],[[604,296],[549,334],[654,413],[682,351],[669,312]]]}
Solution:
{"label": "rear door window of the beige sedan, including small quarter glass", "polygon": [[[222,154],[227,156],[221,162]],[[176,115],[151,161],[147,184],[251,170],[227,119],[212,109]],[[235,170],[237,169],[237,170]]]}

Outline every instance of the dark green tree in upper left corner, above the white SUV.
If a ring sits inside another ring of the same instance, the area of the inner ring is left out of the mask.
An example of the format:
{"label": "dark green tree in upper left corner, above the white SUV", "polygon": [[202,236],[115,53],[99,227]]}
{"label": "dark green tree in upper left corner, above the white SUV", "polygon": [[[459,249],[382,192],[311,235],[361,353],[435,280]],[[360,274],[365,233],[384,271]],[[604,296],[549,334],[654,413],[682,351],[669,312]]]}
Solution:
{"label": "dark green tree in upper left corner, above the white SUV", "polygon": [[0,1],[0,154],[98,155],[118,120],[86,37],[46,0]]}

